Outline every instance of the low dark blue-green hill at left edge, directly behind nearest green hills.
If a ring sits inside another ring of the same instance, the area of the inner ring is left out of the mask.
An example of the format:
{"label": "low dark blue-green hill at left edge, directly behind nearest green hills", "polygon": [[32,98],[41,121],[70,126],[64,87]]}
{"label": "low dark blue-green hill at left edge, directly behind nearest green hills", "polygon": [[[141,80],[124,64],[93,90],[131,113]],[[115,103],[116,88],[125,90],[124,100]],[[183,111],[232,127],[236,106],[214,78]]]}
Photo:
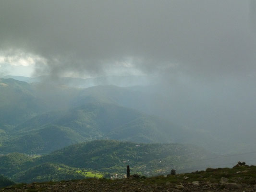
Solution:
{"label": "low dark blue-green hill at left edge, directly behind nearest green hills", "polygon": [[49,125],[21,136],[14,136],[0,146],[0,151],[42,154],[84,141],[84,137],[68,127]]}

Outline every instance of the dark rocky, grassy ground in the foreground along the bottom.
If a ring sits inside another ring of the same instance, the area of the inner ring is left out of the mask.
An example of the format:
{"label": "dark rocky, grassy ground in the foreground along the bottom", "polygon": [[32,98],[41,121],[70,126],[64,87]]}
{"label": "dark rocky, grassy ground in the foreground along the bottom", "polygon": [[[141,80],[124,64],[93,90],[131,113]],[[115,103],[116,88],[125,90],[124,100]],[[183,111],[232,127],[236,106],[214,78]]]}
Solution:
{"label": "dark rocky, grassy ground in the foreground along the bottom", "polygon": [[256,166],[122,180],[86,179],[17,184],[0,192],[256,192]]}

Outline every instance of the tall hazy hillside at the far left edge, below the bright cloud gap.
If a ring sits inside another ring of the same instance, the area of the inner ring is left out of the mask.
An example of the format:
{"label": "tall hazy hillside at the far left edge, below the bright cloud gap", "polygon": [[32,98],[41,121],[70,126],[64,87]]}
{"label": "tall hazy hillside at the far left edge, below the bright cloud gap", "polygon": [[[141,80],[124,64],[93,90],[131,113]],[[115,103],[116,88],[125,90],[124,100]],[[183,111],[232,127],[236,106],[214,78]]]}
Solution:
{"label": "tall hazy hillside at the far left edge, below the bright cloud gap", "polygon": [[30,84],[13,79],[0,79],[0,129],[9,131],[44,109]]}

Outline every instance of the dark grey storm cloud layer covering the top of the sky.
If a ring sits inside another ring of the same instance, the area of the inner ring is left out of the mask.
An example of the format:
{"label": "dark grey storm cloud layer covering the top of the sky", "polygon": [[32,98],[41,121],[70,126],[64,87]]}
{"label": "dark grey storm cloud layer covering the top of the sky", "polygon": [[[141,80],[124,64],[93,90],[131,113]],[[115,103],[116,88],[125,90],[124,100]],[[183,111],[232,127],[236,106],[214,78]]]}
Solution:
{"label": "dark grey storm cloud layer covering the top of the sky", "polygon": [[248,0],[1,0],[0,48],[48,60],[37,72],[101,73],[133,58],[144,72],[251,74],[256,3]]}

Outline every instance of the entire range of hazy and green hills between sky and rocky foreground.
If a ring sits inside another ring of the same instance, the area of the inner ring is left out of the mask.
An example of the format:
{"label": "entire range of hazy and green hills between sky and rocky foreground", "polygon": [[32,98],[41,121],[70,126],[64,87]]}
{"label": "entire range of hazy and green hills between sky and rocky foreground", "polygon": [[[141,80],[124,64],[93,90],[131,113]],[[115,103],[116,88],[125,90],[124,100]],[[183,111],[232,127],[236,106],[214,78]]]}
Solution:
{"label": "entire range of hazy and green hills between sky and rocky foreground", "polygon": [[229,138],[171,122],[168,113],[151,111],[148,95],[161,106],[164,96],[140,86],[0,79],[0,173],[16,182],[110,178],[123,177],[128,164],[134,173],[155,175],[248,156],[215,155],[230,148]]}

